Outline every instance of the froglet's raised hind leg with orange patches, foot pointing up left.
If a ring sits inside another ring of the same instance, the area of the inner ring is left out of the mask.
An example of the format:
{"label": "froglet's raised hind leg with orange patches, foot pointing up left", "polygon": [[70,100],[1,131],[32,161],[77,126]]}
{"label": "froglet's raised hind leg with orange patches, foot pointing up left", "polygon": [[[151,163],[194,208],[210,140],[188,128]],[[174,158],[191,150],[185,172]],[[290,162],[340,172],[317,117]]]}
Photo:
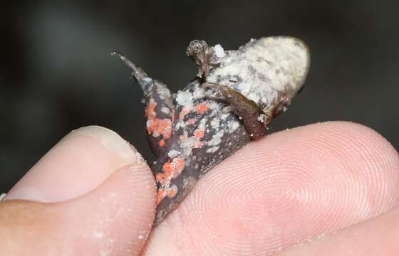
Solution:
{"label": "froglet's raised hind leg with orange patches, foot pointing up left", "polygon": [[172,105],[172,95],[166,85],[148,77],[141,68],[120,53],[112,53],[128,65],[132,70],[132,78],[140,85],[147,107],[145,117],[149,134],[149,142],[155,156],[160,156],[170,147],[172,124],[175,120],[175,108]]}

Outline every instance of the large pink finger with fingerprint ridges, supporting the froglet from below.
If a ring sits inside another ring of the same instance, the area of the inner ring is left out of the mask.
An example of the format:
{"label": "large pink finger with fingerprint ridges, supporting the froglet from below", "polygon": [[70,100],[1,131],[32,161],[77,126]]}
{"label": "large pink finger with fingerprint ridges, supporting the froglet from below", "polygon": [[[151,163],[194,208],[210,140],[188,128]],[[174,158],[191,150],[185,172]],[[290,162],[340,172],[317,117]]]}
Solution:
{"label": "large pink finger with fingerprint ridges, supporting the froglet from below", "polygon": [[398,153],[372,129],[327,122],[229,157],[155,230],[147,255],[271,255],[398,206]]}

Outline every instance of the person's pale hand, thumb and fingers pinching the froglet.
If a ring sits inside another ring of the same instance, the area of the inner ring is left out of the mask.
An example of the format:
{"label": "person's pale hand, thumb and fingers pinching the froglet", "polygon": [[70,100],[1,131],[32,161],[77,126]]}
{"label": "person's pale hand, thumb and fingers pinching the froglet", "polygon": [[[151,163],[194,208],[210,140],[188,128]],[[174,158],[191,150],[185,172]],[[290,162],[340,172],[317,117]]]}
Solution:
{"label": "person's pale hand, thumb and fingers pinching the froglet", "polygon": [[398,206],[398,152],[367,127],[328,122],[244,146],[151,230],[150,168],[115,132],[86,127],[56,144],[0,202],[0,251],[398,255]]}

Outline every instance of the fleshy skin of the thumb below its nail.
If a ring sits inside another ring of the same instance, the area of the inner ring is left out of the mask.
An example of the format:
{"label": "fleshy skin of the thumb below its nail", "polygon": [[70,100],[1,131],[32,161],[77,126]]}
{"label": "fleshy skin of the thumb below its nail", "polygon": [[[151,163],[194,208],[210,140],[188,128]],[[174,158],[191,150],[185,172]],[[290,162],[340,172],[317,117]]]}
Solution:
{"label": "fleshy skin of the thumb below its nail", "polygon": [[[6,255],[138,255],[155,215],[155,182],[144,161],[61,203],[0,203]],[[16,244],[15,241],[19,242]]]}

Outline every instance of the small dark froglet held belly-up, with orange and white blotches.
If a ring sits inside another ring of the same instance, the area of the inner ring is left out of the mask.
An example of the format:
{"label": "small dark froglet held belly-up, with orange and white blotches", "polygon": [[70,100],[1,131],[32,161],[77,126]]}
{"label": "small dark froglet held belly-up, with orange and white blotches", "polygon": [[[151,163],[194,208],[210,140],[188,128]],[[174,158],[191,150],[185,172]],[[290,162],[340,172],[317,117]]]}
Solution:
{"label": "small dark froglet held belly-up, with orange and white blotches", "polygon": [[113,53],[132,70],[145,97],[146,129],[155,161],[158,225],[204,174],[252,139],[266,134],[276,114],[290,105],[309,70],[307,46],[289,36],[252,39],[238,50],[195,40],[187,47],[197,77],[172,94],[135,63]]}

